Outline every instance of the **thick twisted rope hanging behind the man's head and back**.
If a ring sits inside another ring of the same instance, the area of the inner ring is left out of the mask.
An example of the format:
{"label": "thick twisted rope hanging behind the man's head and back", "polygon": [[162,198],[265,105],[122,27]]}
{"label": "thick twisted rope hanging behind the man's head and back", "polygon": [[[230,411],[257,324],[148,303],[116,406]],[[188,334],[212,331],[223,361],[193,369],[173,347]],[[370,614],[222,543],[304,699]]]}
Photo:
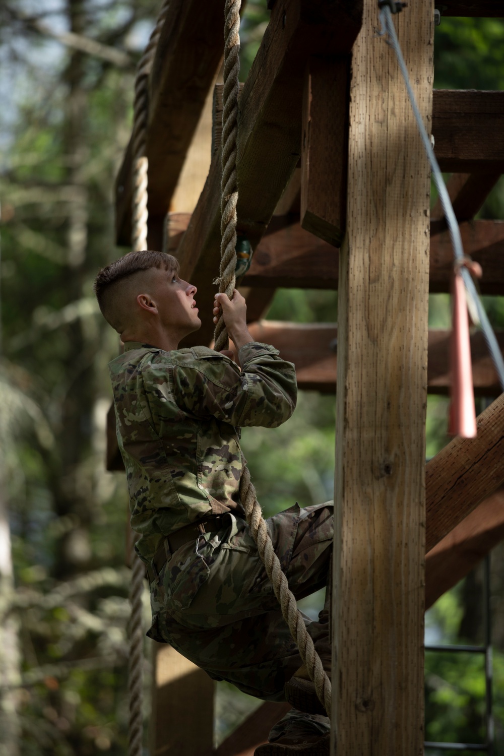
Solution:
{"label": "thick twisted rope hanging behind the man's head and back", "polygon": [[[159,34],[165,23],[170,0],[165,0],[156,26],[138,64],[135,79],[135,103],[133,107],[133,199],[131,221],[131,245],[134,250],[147,249],[147,169],[145,156],[147,142],[147,84],[156,52]],[[144,735],[144,637],[142,630],[142,593],[144,591],[145,565],[135,553],[135,543],[131,544],[131,584],[129,603],[129,658],[128,658],[128,698],[129,698],[129,744],[128,756],[141,756]]]}

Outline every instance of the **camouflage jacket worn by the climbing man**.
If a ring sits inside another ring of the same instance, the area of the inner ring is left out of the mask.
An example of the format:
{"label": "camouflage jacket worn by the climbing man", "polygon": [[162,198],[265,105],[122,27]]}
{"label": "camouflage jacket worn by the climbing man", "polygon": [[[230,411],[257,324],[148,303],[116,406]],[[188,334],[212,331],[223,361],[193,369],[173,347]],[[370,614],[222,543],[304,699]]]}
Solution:
{"label": "camouflage jacket worn by the climbing man", "polygon": [[241,508],[239,426],[274,428],[292,414],[294,366],[272,346],[240,349],[242,370],[207,347],[127,342],[109,364],[131,527],[144,561],[162,536]]}

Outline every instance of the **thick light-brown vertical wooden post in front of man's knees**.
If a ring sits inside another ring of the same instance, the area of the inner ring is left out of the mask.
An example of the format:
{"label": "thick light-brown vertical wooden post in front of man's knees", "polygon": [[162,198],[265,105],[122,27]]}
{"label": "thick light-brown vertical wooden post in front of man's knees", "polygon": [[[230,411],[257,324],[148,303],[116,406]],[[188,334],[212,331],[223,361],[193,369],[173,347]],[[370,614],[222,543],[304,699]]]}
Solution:
{"label": "thick light-brown vertical wooden post in front of man's knees", "polygon": [[[431,119],[433,6],[394,23]],[[423,751],[429,169],[394,51],[364,0],[339,258],[333,753]],[[335,749],[335,750],[334,750]]]}

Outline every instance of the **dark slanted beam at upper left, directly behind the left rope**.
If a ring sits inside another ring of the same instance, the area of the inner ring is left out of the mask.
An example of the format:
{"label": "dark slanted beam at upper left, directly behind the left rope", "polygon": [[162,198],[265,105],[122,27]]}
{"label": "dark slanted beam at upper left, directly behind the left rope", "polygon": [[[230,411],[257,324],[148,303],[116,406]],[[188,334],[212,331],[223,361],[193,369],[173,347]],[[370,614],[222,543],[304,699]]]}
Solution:
{"label": "dark slanted beam at upper left, directly behind the left rope", "polygon": [[[223,54],[221,0],[173,0],[150,75],[147,132],[151,222],[169,210]],[[116,180],[116,243],[131,238],[131,142]]]}

